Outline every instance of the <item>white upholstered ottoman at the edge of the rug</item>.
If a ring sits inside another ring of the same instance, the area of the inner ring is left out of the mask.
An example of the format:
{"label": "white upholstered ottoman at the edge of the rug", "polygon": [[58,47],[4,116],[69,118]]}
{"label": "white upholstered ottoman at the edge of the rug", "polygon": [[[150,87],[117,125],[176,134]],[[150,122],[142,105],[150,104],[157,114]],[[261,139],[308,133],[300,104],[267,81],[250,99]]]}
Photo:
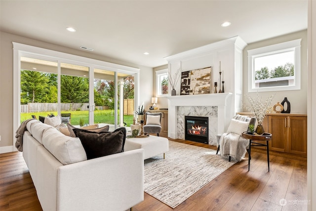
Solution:
{"label": "white upholstered ottoman at the edge of the rug", "polygon": [[169,140],[164,137],[150,135],[147,138],[126,138],[124,151],[144,149],[144,159],[154,157],[169,151]]}

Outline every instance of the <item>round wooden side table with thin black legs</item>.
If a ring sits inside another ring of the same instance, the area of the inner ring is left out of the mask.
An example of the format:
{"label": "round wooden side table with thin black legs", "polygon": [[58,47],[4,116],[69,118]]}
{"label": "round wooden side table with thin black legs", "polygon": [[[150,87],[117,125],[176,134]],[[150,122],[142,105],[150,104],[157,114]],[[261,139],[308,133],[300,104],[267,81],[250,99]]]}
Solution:
{"label": "round wooden side table with thin black legs", "polygon": [[[268,157],[268,171],[270,171],[270,160],[269,160],[269,141],[272,138],[272,134],[265,132],[262,135],[257,135],[257,134],[248,134],[247,131],[243,131],[241,133],[241,136],[249,139],[249,149],[248,149],[248,171],[250,170],[250,160],[251,160],[251,145],[252,146],[263,146],[267,147],[267,157]],[[266,141],[266,144],[263,143],[258,143],[258,142],[253,142],[253,141]]]}

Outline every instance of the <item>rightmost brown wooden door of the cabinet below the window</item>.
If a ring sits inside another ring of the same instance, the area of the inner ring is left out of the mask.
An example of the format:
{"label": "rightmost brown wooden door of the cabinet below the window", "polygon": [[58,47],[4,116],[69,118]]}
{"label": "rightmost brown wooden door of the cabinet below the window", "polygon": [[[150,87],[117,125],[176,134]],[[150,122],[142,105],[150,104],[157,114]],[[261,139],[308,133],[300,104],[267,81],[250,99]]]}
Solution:
{"label": "rightmost brown wooden door of the cabinet below the window", "polygon": [[288,152],[307,155],[307,117],[288,117]]}

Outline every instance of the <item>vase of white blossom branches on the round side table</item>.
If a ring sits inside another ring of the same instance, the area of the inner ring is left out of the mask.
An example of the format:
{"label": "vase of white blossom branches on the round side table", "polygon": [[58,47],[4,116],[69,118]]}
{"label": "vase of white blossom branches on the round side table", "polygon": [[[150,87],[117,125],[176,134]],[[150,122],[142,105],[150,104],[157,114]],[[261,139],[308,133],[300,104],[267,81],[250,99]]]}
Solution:
{"label": "vase of white blossom branches on the round side table", "polygon": [[246,98],[249,104],[245,104],[244,107],[257,119],[258,127],[255,130],[257,134],[261,135],[264,133],[262,122],[266,115],[272,112],[271,102],[274,95],[270,95],[265,102],[262,102],[262,97],[259,96],[258,92],[255,98],[249,95]]}

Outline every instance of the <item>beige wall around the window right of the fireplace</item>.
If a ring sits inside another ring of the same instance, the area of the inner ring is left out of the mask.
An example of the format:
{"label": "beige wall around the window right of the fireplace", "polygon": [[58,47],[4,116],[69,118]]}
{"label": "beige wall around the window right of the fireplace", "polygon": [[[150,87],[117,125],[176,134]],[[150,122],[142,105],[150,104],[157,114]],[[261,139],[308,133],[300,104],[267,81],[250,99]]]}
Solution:
{"label": "beige wall around the window right of the fireplace", "polygon": [[[243,94],[255,96],[257,93],[248,92],[248,53],[247,50],[264,47],[267,45],[272,45],[280,42],[292,41],[296,39],[302,39],[301,42],[301,89],[291,90],[291,91],[274,91],[274,92],[260,92],[263,99],[267,99],[268,96],[276,94],[272,106],[276,102],[282,102],[284,97],[290,101],[291,113],[307,113],[307,30],[272,38],[269,40],[264,40],[260,42],[254,42],[248,44],[243,49]],[[246,111],[246,110],[244,110]]]}

